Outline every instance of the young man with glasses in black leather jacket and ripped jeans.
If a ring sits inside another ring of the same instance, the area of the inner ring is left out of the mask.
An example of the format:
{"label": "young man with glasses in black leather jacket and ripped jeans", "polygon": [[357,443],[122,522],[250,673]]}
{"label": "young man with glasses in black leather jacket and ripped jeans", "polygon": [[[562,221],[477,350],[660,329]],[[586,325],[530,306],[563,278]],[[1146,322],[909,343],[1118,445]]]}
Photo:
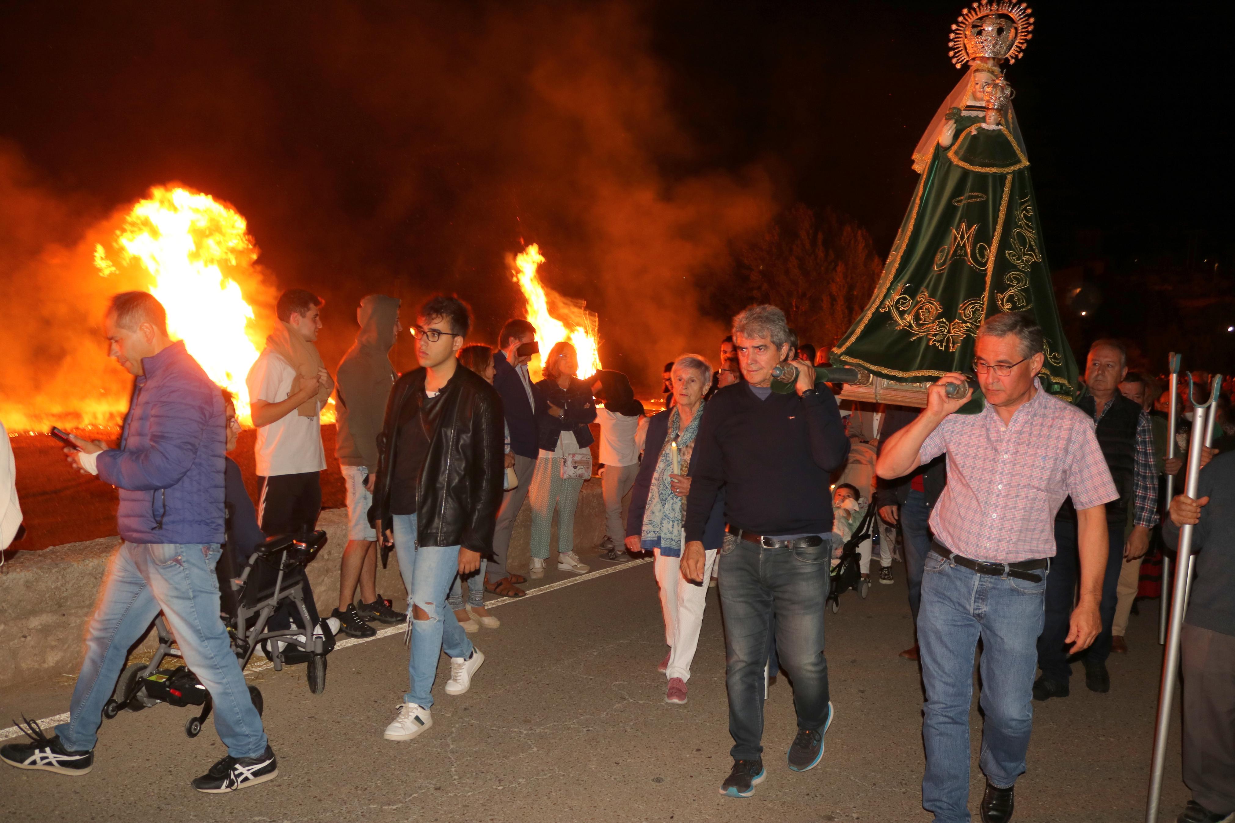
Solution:
{"label": "young man with glasses in black leather jacket and ripped jeans", "polygon": [[447,606],[454,576],[493,556],[493,528],[505,473],[501,399],[456,355],[472,325],[467,305],[437,296],[416,318],[420,368],[404,374],[387,403],[369,521],[394,543],[408,586],[411,661],[388,740],[410,740],[433,723],[430,690],[442,650],[451,656],[447,695],[462,695],[484,655]]}

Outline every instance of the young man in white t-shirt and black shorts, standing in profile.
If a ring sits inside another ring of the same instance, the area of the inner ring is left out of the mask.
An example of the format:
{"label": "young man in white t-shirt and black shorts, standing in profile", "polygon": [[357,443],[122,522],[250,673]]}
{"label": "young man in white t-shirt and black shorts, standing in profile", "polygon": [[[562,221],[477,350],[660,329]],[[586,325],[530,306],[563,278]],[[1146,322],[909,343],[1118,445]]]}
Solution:
{"label": "young man in white t-shirt and black shorts, standing in profile", "polygon": [[[311,345],[321,331],[322,302],[312,292],[289,289],[279,296],[279,321]],[[311,531],[321,511],[320,473],[326,468],[326,450],[321,443],[320,396],[327,385],[333,387],[333,381],[322,368],[317,381],[300,380],[293,394],[296,370],[274,350],[273,341],[272,334],[245,384],[257,427],[254,450],[262,480],[258,522],[267,534],[289,534]],[[301,415],[299,407],[310,401],[317,413]]]}

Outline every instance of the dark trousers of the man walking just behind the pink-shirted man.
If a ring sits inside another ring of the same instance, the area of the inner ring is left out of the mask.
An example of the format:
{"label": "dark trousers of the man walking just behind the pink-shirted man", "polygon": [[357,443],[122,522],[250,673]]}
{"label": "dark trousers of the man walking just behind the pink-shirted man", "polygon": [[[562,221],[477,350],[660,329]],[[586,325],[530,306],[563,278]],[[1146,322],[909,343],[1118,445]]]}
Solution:
{"label": "dark trousers of the man walking just behind the pink-shirted man", "polygon": [[[1102,579],[1102,603],[1098,606],[1102,632],[1094,638],[1093,644],[1081,653],[1089,664],[1105,663],[1110,656],[1110,627],[1115,622],[1115,606],[1119,602],[1119,573],[1124,566],[1124,531],[1108,526],[1108,534],[1110,548],[1107,555],[1107,570]],[[1046,623],[1042,627],[1042,635],[1037,638],[1037,666],[1042,670],[1042,677],[1057,684],[1066,684],[1072,676],[1068,647],[1063,640],[1067,639],[1072,626],[1079,565],[1077,522],[1056,518],[1055,559],[1051,561],[1051,581],[1046,585]]]}

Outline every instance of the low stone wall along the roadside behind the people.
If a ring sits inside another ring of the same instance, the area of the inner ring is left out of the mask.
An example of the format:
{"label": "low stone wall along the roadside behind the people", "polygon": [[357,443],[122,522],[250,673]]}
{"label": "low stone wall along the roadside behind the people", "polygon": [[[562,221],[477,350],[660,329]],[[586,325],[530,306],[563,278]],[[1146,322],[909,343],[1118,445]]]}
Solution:
{"label": "low stone wall along the roadside behind the people", "polygon": [[[579,496],[574,517],[574,545],[584,549],[597,545],[604,537],[604,501],[600,481],[589,480]],[[337,606],[338,561],[347,542],[347,511],[327,508],[317,528],[330,536],[326,547],[309,566],[317,611],[322,614]],[[524,506],[515,522],[510,543],[511,570],[526,575],[530,560],[529,536],[531,511]],[[53,677],[75,675],[82,665],[83,631],[94,611],[99,585],[106,571],[107,559],[119,538],[21,552],[0,566],[0,687]],[[550,542],[557,552],[557,527]],[[556,560],[552,560],[556,563]],[[399,576],[398,558],[390,554],[389,568],[378,565],[378,591],[396,601],[403,611],[406,590]],[[153,632],[138,644],[153,648]]]}

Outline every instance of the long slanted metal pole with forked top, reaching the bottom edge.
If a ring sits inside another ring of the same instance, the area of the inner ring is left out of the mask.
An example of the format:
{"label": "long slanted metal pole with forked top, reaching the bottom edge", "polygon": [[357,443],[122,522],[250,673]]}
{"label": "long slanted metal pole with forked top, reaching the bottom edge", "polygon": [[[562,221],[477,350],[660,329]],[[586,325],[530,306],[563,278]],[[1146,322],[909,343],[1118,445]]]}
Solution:
{"label": "long slanted metal pole with forked top, reaching the bottom edge", "polygon": [[[1188,378],[1188,396],[1195,407],[1192,420],[1192,439],[1188,445],[1188,479],[1184,494],[1189,497],[1197,496],[1197,485],[1200,482],[1200,449],[1204,447],[1205,422],[1209,411],[1216,412],[1216,391],[1209,402],[1198,403],[1192,391],[1192,378]],[[1216,385],[1215,385],[1216,389]],[[1179,548],[1176,554],[1176,568],[1188,569],[1188,559],[1192,556],[1192,526],[1179,529]],[[1171,709],[1174,702],[1176,671],[1179,668],[1179,635],[1183,632],[1183,610],[1188,605],[1187,597],[1188,575],[1176,574],[1174,598],[1171,605],[1171,624],[1167,631],[1166,659],[1162,663],[1162,685],[1158,690],[1157,727],[1153,733],[1153,760],[1150,767],[1150,797],[1145,812],[1146,823],[1157,823],[1158,802],[1162,798],[1162,770],[1166,766],[1166,740],[1171,732]]]}

